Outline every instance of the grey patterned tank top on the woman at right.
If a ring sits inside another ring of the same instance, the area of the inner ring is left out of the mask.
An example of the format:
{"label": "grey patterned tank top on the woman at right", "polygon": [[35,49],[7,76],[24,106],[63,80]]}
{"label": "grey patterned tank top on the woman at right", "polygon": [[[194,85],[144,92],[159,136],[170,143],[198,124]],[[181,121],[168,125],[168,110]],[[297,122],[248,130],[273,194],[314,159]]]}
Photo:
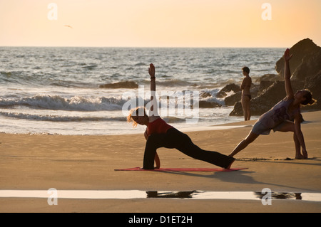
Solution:
{"label": "grey patterned tank top on the woman at right", "polygon": [[272,107],[271,110],[265,112],[265,114],[260,116],[260,122],[262,122],[265,127],[272,129],[286,120],[294,120],[297,112],[300,113],[300,107],[291,112],[288,112],[288,107],[292,102],[293,99],[277,102],[277,104]]}

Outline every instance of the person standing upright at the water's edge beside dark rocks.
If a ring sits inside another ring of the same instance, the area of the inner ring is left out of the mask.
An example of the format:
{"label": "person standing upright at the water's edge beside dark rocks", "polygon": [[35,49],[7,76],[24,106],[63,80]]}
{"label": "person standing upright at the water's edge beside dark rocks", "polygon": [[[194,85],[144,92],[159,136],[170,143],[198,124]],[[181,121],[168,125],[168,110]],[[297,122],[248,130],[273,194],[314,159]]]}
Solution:
{"label": "person standing upright at the water's edge beside dark rocks", "polygon": [[251,93],[250,88],[252,85],[252,79],[250,78],[250,69],[248,67],[243,67],[243,75],[245,78],[242,81],[242,84],[240,85],[240,89],[242,90],[242,98],[241,103],[243,107],[243,114],[244,114],[244,120],[250,120],[251,118]]}

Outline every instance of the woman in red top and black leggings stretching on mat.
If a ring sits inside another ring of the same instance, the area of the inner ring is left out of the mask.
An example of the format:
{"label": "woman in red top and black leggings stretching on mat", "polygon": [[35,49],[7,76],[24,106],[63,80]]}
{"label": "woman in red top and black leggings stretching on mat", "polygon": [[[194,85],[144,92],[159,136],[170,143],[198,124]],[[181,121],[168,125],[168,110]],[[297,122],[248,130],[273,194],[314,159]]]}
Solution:
{"label": "woman in red top and black leggings stretching on mat", "polygon": [[[210,152],[200,149],[200,147],[193,144],[190,137],[183,132],[176,130],[174,127],[168,125],[158,115],[156,102],[156,82],[155,82],[155,66],[150,65],[148,69],[151,75],[151,112],[150,116],[146,114],[145,107],[137,107],[131,110],[127,117],[128,122],[133,122],[133,125],[146,125],[147,129],[144,133],[146,138],[145,154],[143,159],[143,169],[158,169],[161,167],[161,162],[156,152],[160,147],[178,149],[180,152],[193,157],[194,159],[202,160],[215,164],[216,166],[229,169],[235,161],[233,157],[228,157],[218,152]],[[156,167],[154,167],[154,160]]]}

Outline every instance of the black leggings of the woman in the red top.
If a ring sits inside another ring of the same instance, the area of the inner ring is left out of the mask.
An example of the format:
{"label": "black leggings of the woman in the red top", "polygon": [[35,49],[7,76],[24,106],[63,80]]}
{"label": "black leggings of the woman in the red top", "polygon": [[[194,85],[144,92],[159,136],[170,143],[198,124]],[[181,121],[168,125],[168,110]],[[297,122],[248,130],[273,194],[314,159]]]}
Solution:
{"label": "black leggings of the woman in the red top", "polygon": [[154,169],[156,149],[160,147],[175,148],[189,157],[223,168],[228,167],[235,160],[233,157],[228,157],[218,152],[200,149],[200,147],[193,144],[187,134],[175,128],[170,128],[164,134],[151,134],[148,137],[145,147],[143,169]]}

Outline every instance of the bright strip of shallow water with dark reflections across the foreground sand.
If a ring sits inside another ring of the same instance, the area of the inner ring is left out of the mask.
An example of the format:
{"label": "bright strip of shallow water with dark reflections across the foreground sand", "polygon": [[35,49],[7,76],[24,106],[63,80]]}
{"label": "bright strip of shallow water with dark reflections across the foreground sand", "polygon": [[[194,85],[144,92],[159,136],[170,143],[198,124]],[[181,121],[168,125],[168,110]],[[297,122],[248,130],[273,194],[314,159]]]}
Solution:
{"label": "bright strip of shallow water with dark reflections across the foreground sand", "polygon": [[[46,190],[0,190],[0,198],[48,198]],[[260,191],[56,190],[57,199],[234,199],[262,200]],[[321,193],[271,192],[270,199],[321,202]]]}

